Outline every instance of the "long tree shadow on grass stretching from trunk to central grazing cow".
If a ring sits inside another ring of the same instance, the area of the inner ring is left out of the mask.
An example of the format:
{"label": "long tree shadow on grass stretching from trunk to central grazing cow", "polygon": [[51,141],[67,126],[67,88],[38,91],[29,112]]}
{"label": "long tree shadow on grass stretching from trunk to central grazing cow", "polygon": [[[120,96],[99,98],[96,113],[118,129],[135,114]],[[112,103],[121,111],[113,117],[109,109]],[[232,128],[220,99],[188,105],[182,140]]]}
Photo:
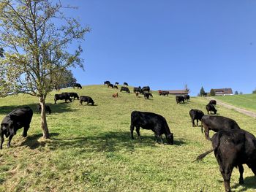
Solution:
{"label": "long tree shadow on grass stretching from trunk to central grazing cow", "polygon": [[[108,132],[102,133],[98,136],[89,136],[89,137],[74,137],[70,139],[58,138],[59,134],[52,133],[50,134],[50,139],[43,142],[38,142],[39,137],[42,137],[42,134],[35,134],[27,137],[21,146],[27,145],[31,149],[36,149],[37,147],[45,147],[48,144],[50,150],[68,150],[81,149],[83,151],[105,151],[105,152],[114,152],[118,150],[127,149],[129,151],[134,151],[135,147],[156,147],[157,145],[154,137],[144,136],[142,139],[131,139],[130,132]],[[135,137],[136,138],[136,137]],[[166,140],[164,139],[164,144],[166,145]],[[182,139],[174,140],[174,145],[184,145],[185,142]],[[163,145],[163,144],[159,144]]]}

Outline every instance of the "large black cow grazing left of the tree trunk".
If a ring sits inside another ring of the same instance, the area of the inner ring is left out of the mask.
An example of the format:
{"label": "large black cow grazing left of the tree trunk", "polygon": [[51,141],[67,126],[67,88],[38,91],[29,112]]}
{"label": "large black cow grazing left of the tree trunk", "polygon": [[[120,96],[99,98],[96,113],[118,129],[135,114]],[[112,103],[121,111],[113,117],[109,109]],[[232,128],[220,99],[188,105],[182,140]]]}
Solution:
{"label": "large black cow grazing left of the tree trunk", "polygon": [[12,137],[16,134],[17,130],[23,128],[23,137],[27,136],[29,125],[33,116],[33,111],[30,107],[23,107],[17,110],[13,110],[8,115],[4,117],[1,121],[1,145],[0,149],[3,148],[4,135],[9,137],[9,142],[7,147],[11,146]]}

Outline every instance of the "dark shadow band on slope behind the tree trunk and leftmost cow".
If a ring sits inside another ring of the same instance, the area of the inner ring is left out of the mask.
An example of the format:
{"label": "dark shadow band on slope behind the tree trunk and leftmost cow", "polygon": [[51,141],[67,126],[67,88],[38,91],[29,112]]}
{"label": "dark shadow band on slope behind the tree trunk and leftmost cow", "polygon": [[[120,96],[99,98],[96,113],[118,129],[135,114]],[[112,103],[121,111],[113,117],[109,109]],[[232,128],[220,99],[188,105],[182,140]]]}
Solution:
{"label": "dark shadow band on slope behind the tree trunk and leftmost cow", "polygon": [[[73,103],[73,102],[72,102]],[[74,110],[71,109],[70,104],[72,103],[59,103],[59,104],[47,104],[50,106],[50,109],[52,110],[52,113],[62,113],[62,112],[72,112]],[[0,114],[7,115],[12,110],[16,110],[23,107],[31,107],[33,110],[34,115],[37,113],[37,104],[26,104],[26,105],[10,105],[10,106],[1,106],[0,107]]]}

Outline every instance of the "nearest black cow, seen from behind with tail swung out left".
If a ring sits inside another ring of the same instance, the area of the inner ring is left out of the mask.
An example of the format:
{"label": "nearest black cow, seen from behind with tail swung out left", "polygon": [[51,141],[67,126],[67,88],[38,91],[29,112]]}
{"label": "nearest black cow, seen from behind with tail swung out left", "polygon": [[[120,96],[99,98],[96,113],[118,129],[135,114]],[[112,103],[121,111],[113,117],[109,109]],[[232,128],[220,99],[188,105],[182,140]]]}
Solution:
{"label": "nearest black cow, seen from behind with tail swung out left", "polygon": [[238,166],[240,172],[239,184],[244,183],[243,164],[249,166],[256,176],[256,139],[253,134],[243,129],[222,130],[214,134],[211,143],[213,149],[199,155],[197,161],[214,151],[224,180],[225,191],[231,191],[230,177],[235,166]]}

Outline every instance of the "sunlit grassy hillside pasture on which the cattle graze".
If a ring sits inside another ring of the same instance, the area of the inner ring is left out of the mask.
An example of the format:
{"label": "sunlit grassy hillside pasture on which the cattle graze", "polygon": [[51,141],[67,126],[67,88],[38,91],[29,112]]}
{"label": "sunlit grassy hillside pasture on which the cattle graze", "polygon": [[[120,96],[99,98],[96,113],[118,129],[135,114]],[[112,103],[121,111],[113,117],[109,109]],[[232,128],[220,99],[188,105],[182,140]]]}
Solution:
{"label": "sunlit grassy hillside pasture on which the cattle graze", "polygon": [[[131,89],[130,89],[131,90]],[[74,91],[65,89],[64,91]],[[37,99],[27,95],[0,99],[0,118],[16,107],[29,105],[34,110],[28,137],[22,130],[7,148],[0,151],[0,191],[225,191],[214,154],[201,162],[197,155],[211,149],[200,128],[193,128],[189,110],[206,113],[208,100],[192,97],[188,104],[176,104],[174,96],[136,98],[104,85],[84,86],[75,91],[91,96],[96,106],[79,106],[78,100],[47,103],[50,139],[42,139]],[[130,139],[130,114],[133,110],[164,116],[174,134],[174,145],[154,141],[152,131],[140,129]],[[219,115],[235,119],[241,128],[256,134],[256,120],[217,106]],[[211,132],[211,135],[213,133]],[[244,166],[244,185],[238,185],[238,169],[233,170],[233,191],[255,191],[255,176]]]}

